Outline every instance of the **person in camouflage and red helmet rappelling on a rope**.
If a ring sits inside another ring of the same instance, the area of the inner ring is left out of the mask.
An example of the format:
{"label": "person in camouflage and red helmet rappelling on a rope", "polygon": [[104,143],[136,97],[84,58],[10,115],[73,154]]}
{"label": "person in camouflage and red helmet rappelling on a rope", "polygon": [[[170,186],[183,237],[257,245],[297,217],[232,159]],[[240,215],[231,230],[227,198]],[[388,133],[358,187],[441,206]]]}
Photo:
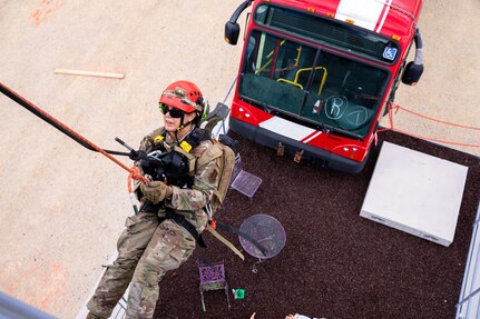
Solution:
{"label": "person in camouflage and red helmet rappelling on a rope", "polygon": [[221,179],[222,149],[199,128],[204,98],[196,84],[177,81],[159,100],[164,126],[133,150],[148,182],[137,182],[140,202],[118,239],[118,257],[106,269],[87,318],[109,318],[130,285],[126,318],[153,318],[158,282],[204,246],[202,231],[212,218],[209,203]]}

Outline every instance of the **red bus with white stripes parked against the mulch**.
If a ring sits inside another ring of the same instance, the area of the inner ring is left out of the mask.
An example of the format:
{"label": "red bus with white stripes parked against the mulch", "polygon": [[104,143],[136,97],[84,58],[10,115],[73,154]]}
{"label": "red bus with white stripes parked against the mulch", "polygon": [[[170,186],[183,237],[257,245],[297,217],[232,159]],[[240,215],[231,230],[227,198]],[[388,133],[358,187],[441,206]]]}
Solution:
{"label": "red bus with white stripes parked against the mulch", "polygon": [[400,82],[414,86],[423,72],[422,0],[244,1],[225,24],[228,43],[248,7],[229,128],[297,159],[361,171]]}

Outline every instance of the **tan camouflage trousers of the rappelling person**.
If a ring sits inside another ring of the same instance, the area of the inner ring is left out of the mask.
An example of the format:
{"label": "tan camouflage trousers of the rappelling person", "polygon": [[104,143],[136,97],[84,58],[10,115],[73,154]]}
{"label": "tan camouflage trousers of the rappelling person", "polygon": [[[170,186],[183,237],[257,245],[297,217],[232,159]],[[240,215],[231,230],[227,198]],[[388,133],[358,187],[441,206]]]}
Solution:
{"label": "tan camouflage trousers of the rappelling person", "polygon": [[192,256],[195,239],[172,220],[159,223],[155,213],[141,212],[127,218],[117,249],[117,259],[106,269],[87,308],[108,318],[131,281],[126,318],[153,318],[158,282]]}

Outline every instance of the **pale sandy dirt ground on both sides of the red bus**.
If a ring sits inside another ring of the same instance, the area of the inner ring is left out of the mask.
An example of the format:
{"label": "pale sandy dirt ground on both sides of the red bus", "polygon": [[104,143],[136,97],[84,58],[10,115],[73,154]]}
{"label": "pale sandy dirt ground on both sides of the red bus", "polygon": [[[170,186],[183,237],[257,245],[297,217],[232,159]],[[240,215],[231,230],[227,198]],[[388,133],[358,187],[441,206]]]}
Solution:
{"label": "pale sandy dirt ground on both sides of the red bus", "polygon": [[[121,150],[115,137],[136,146],[160,123],[156,102],[169,82],[189,79],[210,104],[224,100],[241,46],[227,46],[223,30],[239,2],[0,0],[0,82],[102,148]],[[418,87],[399,90],[399,104],[480,126],[479,9],[478,0],[425,1],[419,23],[425,73]],[[56,68],[125,79],[56,74]],[[0,96],[0,290],[74,318],[131,213],[127,173],[10,99]],[[395,127],[437,140],[480,141],[478,129],[403,111]],[[480,156],[479,147],[451,147]]]}

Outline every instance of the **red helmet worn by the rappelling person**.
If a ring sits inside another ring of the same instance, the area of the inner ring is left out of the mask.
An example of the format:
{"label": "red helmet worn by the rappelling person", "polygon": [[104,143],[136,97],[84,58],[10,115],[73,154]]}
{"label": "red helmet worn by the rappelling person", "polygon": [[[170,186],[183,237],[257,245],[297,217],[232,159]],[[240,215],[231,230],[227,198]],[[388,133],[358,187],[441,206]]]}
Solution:
{"label": "red helmet worn by the rappelling person", "polygon": [[176,81],[169,84],[161,93],[160,103],[180,109],[186,113],[202,112],[203,94],[200,89],[194,83],[189,81]]}

